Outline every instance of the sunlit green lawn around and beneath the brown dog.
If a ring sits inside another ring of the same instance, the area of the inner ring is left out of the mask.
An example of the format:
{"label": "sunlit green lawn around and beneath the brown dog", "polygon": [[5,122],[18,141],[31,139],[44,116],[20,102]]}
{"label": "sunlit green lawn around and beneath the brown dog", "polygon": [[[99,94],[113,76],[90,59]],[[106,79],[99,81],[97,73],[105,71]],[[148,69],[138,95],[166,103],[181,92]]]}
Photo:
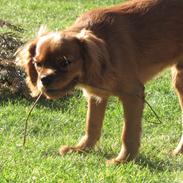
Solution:
{"label": "sunlit green lawn around and beneath the brown dog", "polygon": [[[31,39],[41,24],[50,29],[69,26],[84,11],[112,5],[121,0],[1,0],[0,17],[26,30]],[[41,100],[29,121],[26,148],[22,148],[26,114],[32,101],[9,97],[0,101],[0,182],[93,182],[172,183],[183,182],[183,157],[171,151],[181,134],[181,110],[171,90],[170,74],[164,73],[146,86],[147,100],[162,123],[148,107],[144,110],[142,145],[135,162],[106,166],[106,159],[120,150],[122,109],[111,98],[100,146],[90,153],[58,155],[62,144],[75,144],[83,135],[86,101],[80,92],[57,101]]]}

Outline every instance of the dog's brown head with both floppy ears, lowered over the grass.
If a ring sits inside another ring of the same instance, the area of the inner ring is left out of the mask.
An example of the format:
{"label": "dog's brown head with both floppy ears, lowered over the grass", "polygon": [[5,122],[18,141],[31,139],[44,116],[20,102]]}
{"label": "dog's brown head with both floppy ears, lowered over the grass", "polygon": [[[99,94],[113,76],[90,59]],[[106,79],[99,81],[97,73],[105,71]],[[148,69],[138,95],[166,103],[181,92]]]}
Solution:
{"label": "dog's brown head with both floppy ears, lowered over the grass", "polygon": [[32,96],[43,92],[47,98],[58,98],[83,78],[98,77],[107,51],[104,42],[90,31],[39,31],[17,55]]}

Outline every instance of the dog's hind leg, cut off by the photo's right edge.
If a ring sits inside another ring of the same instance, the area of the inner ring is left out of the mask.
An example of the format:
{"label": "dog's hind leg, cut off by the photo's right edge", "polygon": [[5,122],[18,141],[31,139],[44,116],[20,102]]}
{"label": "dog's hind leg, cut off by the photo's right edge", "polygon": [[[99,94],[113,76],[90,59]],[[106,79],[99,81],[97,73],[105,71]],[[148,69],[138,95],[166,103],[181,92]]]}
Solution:
{"label": "dog's hind leg, cut off by the photo's right edge", "polygon": [[[179,97],[179,102],[183,111],[183,64],[177,64],[172,68],[172,81]],[[183,128],[183,119],[182,119]],[[183,154],[183,133],[180,142],[173,151],[174,155]]]}

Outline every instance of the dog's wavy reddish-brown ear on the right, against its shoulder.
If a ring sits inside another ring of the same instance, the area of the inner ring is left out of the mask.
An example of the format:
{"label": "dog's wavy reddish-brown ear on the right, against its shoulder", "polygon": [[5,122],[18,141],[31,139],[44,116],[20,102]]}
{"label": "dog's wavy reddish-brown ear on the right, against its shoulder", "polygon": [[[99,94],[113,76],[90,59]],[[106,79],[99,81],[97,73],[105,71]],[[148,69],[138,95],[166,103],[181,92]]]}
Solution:
{"label": "dog's wavy reddish-brown ear on the right, against its shoulder", "polygon": [[105,42],[91,31],[83,29],[78,35],[81,55],[84,59],[84,70],[89,78],[102,78],[109,54]]}

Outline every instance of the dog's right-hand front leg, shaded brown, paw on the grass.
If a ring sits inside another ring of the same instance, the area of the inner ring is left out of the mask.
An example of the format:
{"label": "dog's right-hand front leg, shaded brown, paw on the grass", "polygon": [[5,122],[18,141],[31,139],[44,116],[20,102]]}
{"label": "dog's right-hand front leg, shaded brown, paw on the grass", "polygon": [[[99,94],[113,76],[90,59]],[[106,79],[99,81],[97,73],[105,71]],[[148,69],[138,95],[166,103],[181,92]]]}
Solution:
{"label": "dog's right-hand front leg, shaded brown, paw on the grass", "polygon": [[122,131],[121,151],[115,159],[107,161],[109,164],[124,163],[133,160],[140,146],[141,118],[144,108],[144,91],[141,97],[126,95],[121,97],[125,124]]}

